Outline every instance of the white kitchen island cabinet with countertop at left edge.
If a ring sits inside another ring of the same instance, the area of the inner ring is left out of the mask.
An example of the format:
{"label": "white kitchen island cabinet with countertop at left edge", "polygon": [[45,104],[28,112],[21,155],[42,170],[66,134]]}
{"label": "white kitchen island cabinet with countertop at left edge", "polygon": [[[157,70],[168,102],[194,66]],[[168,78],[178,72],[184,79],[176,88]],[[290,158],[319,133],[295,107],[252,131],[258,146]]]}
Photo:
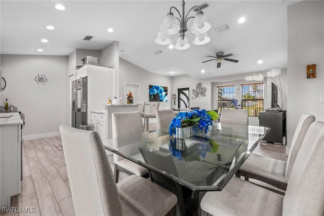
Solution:
{"label": "white kitchen island cabinet with countertop at left edge", "polygon": [[1,207],[10,207],[10,197],[21,191],[21,126],[19,113],[0,114]]}

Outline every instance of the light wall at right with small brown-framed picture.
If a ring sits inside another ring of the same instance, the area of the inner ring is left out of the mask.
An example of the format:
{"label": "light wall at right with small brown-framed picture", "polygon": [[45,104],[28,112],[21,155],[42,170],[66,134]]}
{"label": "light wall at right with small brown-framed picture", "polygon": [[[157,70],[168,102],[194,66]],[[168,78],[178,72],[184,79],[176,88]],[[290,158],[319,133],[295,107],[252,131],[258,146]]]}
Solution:
{"label": "light wall at right with small brown-framed picture", "polygon": [[[302,1],[288,7],[287,144],[303,113],[324,121],[324,2]],[[306,65],[316,64],[316,78],[306,78]]]}

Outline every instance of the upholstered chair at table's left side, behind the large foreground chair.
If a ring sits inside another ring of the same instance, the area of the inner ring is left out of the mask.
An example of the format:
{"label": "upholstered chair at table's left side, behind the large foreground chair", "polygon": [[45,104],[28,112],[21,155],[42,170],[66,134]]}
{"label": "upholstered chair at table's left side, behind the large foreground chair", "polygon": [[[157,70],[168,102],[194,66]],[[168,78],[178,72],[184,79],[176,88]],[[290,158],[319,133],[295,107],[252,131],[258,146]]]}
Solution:
{"label": "upholstered chair at table's left side, behind the large foreground chair", "polygon": [[[112,114],[112,137],[119,137],[129,134],[138,134],[144,132],[143,122],[140,112],[128,113],[113,113]],[[125,145],[125,143],[114,143],[115,147]],[[143,177],[149,177],[148,170],[126,158],[113,155],[113,162],[115,164],[115,181],[118,182],[119,171],[125,172],[129,175],[136,174]]]}

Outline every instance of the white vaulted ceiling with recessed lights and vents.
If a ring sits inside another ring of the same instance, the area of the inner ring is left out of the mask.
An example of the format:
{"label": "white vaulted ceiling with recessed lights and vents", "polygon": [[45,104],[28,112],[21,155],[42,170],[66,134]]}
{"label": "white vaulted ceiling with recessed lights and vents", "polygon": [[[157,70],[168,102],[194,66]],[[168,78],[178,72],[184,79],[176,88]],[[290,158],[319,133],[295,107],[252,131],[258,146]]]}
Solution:
{"label": "white vaulted ceiling with recessed lights and vents", "polygon": [[[186,1],[187,11],[206,1]],[[171,6],[181,10],[181,1],[1,1],[1,54],[69,55],[76,48],[101,50],[119,41],[120,57],[152,73],[168,76],[189,74],[197,79],[254,73],[287,67],[287,6],[297,1],[207,1],[204,9],[212,28],[211,42],[170,50],[154,43],[159,26]],[[61,3],[65,11],[54,9]],[[192,16],[194,12],[190,12]],[[176,14],[176,13],[175,13]],[[246,22],[239,24],[244,16]],[[192,19],[188,21],[188,26]],[[225,24],[230,29],[217,33]],[[53,25],[55,30],[48,30]],[[114,32],[107,32],[112,27]],[[91,41],[83,41],[86,35]],[[178,34],[171,35],[176,42]],[[42,43],[41,39],[49,43]],[[36,50],[42,48],[40,53]],[[121,51],[124,50],[124,51]],[[161,50],[159,55],[154,51]],[[216,61],[207,55],[222,51],[238,63]],[[257,61],[262,59],[263,64]],[[201,69],[206,73],[201,74]],[[175,71],[174,75],[169,71]]]}

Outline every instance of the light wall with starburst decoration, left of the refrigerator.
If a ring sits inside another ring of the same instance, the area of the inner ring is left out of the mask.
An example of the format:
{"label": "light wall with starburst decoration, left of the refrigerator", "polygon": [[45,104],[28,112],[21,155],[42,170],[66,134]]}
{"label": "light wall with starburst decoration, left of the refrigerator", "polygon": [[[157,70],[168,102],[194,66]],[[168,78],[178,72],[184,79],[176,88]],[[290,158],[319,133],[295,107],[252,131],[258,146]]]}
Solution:
{"label": "light wall with starburst decoration, left of the refrigerator", "polygon": [[[67,124],[67,56],[1,55],[1,70],[7,87],[1,103],[18,105],[25,114],[23,138],[59,135],[59,125]],[[45,75],[45,85],[34,81]]]}

